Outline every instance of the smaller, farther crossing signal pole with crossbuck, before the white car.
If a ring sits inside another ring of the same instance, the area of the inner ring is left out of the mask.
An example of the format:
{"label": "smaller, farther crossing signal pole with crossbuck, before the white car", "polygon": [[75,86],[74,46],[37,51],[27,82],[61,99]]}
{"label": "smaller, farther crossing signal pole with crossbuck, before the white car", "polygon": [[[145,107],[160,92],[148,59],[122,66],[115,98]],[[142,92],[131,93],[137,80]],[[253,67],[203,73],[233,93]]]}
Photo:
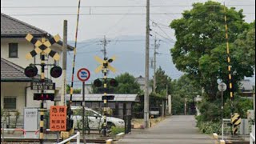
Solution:
{"label": "smaller, farther crossing signal pole with crossbuck, before the white car", "polygon": [[[102,126],[102,134],[104,137],[106,137],[106,126],[107,126],[107,122],[106,122],[106,108],[107,108],[107,101],[108,100],[114,100],[114,96],[110,96],[107,95],[108,93],[108,84],[112,85],[112,86],[117,86],[117,82],[115,81],[114,78],[110,79],[110,82],[108,82],[109,78],[107,78],[107,74],[108,74],[108,70],[111,70],[112,72],[115,72],[116,70],[114,69],[114,67],[110,66],[110,63],[114,61],[114,57],[113,58],[106,58],[106,55],[104,54],[104,59],[102,60],[102,58],[98,58],[97,56],[94,57],[95,60],[97,62],[99,62],[101,65],[98,66],[98,68],[95,70],[96,73],[98,73],[100,70],[102,70],[103,73],[103,78],[102,78],[102,82],[103,82],[103,96],[102,96],[102,101],[104,102],[104,106],[103,106],[103,126]],[[94,86],[96,87],[100,87],[102,86],[102,82],[100,79],[96,79],[94,81]]]}

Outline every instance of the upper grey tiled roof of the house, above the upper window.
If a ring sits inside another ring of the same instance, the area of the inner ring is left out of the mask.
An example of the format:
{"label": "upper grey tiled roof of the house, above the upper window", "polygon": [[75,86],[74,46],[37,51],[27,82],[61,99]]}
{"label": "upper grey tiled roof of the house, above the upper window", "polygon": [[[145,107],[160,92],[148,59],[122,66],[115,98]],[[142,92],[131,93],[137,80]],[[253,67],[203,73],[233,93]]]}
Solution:
{"label": "upper grey tiled roof of the house, above the upper window", "polygon": [[44,30],[40,30],[37,27],[1,13],[1,37],[25,37],[28,33],[34,36],[46,36],[47,34]]}

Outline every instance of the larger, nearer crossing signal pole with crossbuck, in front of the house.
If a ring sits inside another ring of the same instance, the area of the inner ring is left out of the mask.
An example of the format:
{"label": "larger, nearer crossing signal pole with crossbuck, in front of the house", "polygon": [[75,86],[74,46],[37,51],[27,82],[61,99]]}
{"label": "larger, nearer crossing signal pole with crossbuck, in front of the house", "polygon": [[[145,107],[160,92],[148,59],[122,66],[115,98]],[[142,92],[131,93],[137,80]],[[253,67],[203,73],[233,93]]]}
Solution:
{"label": "larger, nearer crossing signal pole with crossbuck, in front of the house", "polygon": [[[33,78],[38,74],[38,69],[36,68],[36,65],[41,66],[41,80],[40,82],[44,83],[45,82],[45,66],[54,66],[50,70],[50,74],[53,78],[58,78],[62,74],[62,68],[59,66],[51,65],[51,64],[46,64],[46,54],[49,54],[52,58],[54,58],[55,61],[58,61],[60,56],[58,55],[57,52],[54,50],[50,49],[50,46],[52,46],[55,42],[58,42],[60,40],[60,37],[58,35],[54,36],[54,38],[50,38],[49,40],[46,41],[46,38],[42,38],[42,41],[37,40],[36,38],[33,37],[31,34],[26,35],[26,40],[34,44],[35,49],[32,50],[29,54],[26,54],[26,59],[31,59],[37,54],[40,55],[41,59],[41,64],[30,64],[30,66],[27,66],[24,73],[26,74],[27,77]],[[45,100],[52,100],[52,96],[49,97],[49,95],[44,94],[44,86],[42,86],[41,90],[41,98],[39,95],[35,94],[34,95],[34,100],[42,100],[41,105],[40,105],[40,134],[39,134],[39,140],[40,143],[43,143],[43,118],[44,118],[44,113],[45,109],[43,106],[43,102]]]}

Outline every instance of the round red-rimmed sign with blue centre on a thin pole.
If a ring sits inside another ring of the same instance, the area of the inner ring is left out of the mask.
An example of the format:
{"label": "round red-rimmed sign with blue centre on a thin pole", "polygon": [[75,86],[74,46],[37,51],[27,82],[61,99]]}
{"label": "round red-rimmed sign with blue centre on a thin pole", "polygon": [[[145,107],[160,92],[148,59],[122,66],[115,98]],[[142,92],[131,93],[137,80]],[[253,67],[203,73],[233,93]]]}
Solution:
{"label": "round red-rimmed sign with blue centre on a thin pole", "polygon": [[78,70],[78,79],[82,81],[82,138],[83,141],[86,142],[85,138],[85,86],[86,86],[86,81],[90,78],[90,71],[87,70],[86,68],[82,68]]}

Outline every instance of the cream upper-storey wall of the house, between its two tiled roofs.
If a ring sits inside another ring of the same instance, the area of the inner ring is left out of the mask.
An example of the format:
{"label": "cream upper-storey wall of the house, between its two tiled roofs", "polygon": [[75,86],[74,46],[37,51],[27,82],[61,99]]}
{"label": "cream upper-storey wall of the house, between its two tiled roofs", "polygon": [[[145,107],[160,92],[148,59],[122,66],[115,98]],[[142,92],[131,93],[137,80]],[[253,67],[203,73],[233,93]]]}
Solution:
{"label": "cream upper-storey wall of the house, between its two tiled roofs", "polygon": [[[9,58],[9,43],[10,42],[17,42],[18,43],[18,58]],[[57,62],[57,65],[62,67],[62,46],[59,46],[57,44],[54,44],[50,47],[52,50],[55,50],[60,54],[61,59]],[[22,66],[23,68],[26,68],[26,66],[29,66],[30,63],[41,63],[40,60],[40,54],[36,55],[35,58],[32,58],[30,60],[26,59],[26,54],[30,53],[30,51],[34,50],[33,44],[30,42],[27,42],[25,38],[1,38],[1,58],[5,58],[6,60],[15,63],[18,66]],[[46,61],[46,64],[54,64],[54,58],[51,58],[49,56],[48,61]],[[50,76],[50,68],[52,66],[46,66],[46,78],[49,78],[53,80],[53,82],[56,83],[56,89],[61,89],[61,82],[62,82],[62,76],[59,78],[52,78]],[[38,74],[41,74],[41,66],[38,66]]]}

